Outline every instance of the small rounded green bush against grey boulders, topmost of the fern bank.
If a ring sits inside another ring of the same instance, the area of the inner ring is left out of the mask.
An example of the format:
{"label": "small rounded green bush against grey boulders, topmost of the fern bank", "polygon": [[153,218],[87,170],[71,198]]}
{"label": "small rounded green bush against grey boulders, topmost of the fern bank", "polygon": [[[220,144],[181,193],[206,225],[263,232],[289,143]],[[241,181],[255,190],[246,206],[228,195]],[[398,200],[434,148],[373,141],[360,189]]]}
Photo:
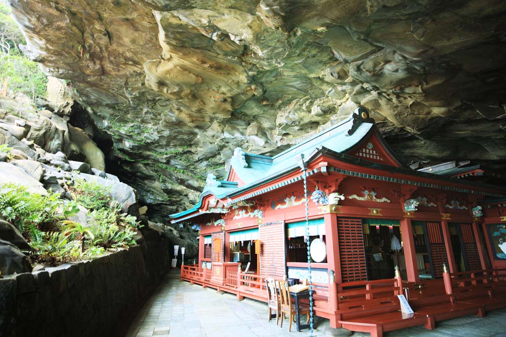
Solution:
{"label": "small rounded green bush against grey boulders, topmost of the fern bank", "polygon": [[89,210],[100,210],[111,203],[110,188],[92,181],[76,179],[68,190],[73,200]]}

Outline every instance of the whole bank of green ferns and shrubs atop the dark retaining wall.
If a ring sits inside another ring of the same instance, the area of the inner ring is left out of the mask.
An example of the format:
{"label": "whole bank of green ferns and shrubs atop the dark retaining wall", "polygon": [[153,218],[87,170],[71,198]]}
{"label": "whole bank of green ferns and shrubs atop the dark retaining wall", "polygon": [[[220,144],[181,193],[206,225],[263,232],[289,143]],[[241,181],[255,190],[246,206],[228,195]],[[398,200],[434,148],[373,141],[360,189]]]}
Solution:
{"label": "whole bank of green ferns and shrubs atop the dark retaining wall", "polygon": [[[0,185],[0,215],[16,226],[33,252],[32,262],[56,265],[67,261],[92,259],[108,248],[135,245],[137,218],[123,213],[111,203],[107,189],[95,183],[77,181],[69,190],[76,201],[63,204],[58,194],[30,194],[25,187]],[[92,206],[90,226],[64,220],[79,212],[78,203]],[[112,204],[112,206],[110,206]]]}

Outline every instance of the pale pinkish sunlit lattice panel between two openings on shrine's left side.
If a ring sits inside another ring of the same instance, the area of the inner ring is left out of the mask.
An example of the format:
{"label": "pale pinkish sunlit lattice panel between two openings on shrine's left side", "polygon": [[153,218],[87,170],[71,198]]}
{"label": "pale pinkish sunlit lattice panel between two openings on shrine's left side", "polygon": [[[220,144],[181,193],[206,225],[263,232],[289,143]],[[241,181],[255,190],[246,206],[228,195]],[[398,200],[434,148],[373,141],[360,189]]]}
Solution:
{"label": "pale pinkish sunlit lattice panel between two openings on shrine's left side", "polygon": [[286,270],[284,221],[260,225],[258,235],[260,239],[260,274],[284,276]]}

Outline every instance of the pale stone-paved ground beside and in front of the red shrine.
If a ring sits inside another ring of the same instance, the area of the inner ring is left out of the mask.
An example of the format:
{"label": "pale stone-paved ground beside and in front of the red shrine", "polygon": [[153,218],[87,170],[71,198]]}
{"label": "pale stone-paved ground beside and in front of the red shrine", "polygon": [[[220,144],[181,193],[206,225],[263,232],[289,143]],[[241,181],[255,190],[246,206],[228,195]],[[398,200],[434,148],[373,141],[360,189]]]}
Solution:
{"label": "pale stone-paved ground beside and in front of the red shrine", "polygon": [[[141,309],[126,337],[249,337],[249,336],[309,336],[309,330],[288,332],[276,320],[267,321],[265,303],[235,295],[218,293],[212,288],[179,281],[179,269],[171,271],[157,291]],[[495,310],[484,318],[466,316],[436,323],[433,331],[412,327],[385,333],[385,337],[506,337],[506,309]],[[317,318],[313,335],[324,336],[328,320]],[[504,331],[504,332],[502,332]],[[327,331],[328,332],[328,331]],[[368,337],[355,332],[354,337]]]}

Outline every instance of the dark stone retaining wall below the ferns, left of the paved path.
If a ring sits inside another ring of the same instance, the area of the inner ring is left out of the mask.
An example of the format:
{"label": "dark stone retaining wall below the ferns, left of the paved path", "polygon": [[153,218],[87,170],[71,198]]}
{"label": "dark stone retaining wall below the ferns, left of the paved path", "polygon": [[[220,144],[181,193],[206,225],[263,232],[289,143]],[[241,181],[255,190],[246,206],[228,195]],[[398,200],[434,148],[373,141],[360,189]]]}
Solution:
{"label": "dark stone retaining wall below the ferns, left of the paved path", "polygon": [[0,335],[124,335],[132,311],[170,268],[168,239],[145,237],[97,260],[0,279]]}

